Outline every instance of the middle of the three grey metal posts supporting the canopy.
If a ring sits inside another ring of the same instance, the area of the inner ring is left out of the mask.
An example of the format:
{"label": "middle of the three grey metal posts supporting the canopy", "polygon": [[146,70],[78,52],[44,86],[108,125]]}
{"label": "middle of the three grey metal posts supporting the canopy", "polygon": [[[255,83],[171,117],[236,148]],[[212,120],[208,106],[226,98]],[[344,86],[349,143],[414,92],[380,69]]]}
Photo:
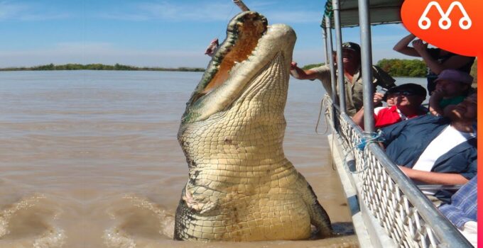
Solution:
{"label": "middle of the three grey metal posts supporting the canopy", "polygon": [[339,106],[340,113],[345,113],[345,85],[344,85],[344,64],[342,64],[342,27],[340,26],[340,2],[339,0],[332,0],[332,11],[334,11],[334,25],[335,25],[335,45],[337,50],[337,82],[339,84]]}

